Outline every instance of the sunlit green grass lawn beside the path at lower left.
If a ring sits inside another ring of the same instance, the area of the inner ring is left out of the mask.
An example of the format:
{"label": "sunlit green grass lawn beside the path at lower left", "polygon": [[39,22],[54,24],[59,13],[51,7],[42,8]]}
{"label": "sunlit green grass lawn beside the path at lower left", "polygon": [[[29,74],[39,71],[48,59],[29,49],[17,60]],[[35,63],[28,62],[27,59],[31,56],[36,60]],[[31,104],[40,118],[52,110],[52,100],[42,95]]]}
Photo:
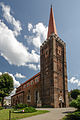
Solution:
{"label": "sunlit green grass lawn beside the path at lower left", "polygon": [[[9,110],[10,109],[3,109],[0,110],[0,120],[9,120]],[[34,115],[39,115],[43,113],[47,113],[49,111],[47,110],[37,110],[36,112],[33,113],[11,113],[11,120],[17,120],[25,117],[30,117]]]}

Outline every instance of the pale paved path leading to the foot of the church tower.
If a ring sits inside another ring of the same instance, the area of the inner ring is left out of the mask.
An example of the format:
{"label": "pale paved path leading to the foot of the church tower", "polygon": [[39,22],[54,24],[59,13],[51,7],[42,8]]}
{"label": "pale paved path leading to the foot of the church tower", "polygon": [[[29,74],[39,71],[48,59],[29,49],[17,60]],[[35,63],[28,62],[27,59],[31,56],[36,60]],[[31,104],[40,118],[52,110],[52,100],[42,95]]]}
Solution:
{"label": "pale paved path leading to the foot of the church tower", "polygon": [[61,120],[68,112],[72,112],[75,109],[74,108],[39,108],[39,110],[49,110],[50,112],[20,120]]}

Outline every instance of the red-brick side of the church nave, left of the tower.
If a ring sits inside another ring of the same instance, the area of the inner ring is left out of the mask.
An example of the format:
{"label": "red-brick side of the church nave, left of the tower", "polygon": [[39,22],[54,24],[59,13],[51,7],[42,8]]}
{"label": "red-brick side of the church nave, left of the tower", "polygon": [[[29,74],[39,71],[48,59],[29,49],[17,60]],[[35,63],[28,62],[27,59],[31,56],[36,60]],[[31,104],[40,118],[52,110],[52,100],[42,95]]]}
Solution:
{"label": "red-brick side of the church nave, left of the tower", "polygon": [[[36,74],[17,88],[16,94],[12,96],[12,105],[25,103],[28,105],[36,106],[36,91],[39,92],[40,96],[40,73]],[[30,100],[27,99],[28,95],[30,96]]]}

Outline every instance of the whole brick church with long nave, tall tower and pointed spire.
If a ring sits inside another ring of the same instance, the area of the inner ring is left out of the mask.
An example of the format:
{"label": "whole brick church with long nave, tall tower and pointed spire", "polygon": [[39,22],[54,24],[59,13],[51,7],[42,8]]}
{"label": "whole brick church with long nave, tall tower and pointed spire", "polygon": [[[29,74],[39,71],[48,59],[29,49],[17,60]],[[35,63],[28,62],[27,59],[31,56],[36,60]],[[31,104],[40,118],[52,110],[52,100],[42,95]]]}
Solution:
{"label": "whole brick church with long nave, tall tower and pointed spire", "polygon": [[68,107],[66,44],[57,34],[52,6],[47,39],[40,46],[40,72],[17,88],[11,102]]}

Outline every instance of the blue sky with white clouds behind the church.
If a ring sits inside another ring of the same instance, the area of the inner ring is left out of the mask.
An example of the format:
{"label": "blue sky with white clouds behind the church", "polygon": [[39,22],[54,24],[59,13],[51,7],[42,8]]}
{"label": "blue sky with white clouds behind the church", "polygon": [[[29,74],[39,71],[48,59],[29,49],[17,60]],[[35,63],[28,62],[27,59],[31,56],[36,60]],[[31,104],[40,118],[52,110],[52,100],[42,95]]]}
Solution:
{"label": "blue sky with white clouds behind the church", "polygon": [[80,88],[80,0],[0,0],[0,72],[12,74],[18,86],[40,71],[51,4],[66,42],[68,89]]}

